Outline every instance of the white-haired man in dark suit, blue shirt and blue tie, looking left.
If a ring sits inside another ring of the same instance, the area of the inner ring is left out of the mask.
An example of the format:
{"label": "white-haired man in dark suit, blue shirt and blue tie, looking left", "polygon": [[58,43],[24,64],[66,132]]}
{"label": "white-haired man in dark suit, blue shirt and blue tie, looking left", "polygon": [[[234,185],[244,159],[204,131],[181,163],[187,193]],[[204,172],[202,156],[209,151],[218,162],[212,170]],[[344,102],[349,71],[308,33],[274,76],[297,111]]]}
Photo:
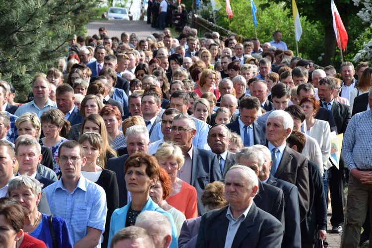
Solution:
{"label": "white-haired man in dark suit, blue shirt and blue tie, looking left", "polygon": [[284,110],[271,112],[266,123],[266,139],[273,161],[270,173],[297,186],[302,221],[310,207],[308,159],[287,146],[286,139],[292,129],[293,119],[289,113]]}

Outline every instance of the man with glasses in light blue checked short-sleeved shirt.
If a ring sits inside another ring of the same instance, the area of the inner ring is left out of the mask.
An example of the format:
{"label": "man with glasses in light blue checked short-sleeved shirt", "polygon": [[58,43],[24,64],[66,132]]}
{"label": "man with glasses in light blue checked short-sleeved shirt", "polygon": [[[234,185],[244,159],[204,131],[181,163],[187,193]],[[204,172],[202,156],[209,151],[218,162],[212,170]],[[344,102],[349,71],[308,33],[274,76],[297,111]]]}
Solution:
{"label": "man with glasses in light blue checked short-sleeved shirt", "polygon": [[107,214],[102,187],[81,174],[86,163],[83,147],[76,141],[62,143],[57,164],[62,179],[44,189],[51,212],[66,220],[74,247],[101,247]]}

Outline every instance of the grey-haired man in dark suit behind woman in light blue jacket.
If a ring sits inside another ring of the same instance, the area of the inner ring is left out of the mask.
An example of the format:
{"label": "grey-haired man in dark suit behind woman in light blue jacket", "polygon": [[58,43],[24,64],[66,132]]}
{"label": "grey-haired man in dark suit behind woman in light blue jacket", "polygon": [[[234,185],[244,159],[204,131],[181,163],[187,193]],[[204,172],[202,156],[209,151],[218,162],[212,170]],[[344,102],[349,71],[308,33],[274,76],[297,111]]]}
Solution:
{"label": "grey-haired man in dark suit behind woman in light blue jacket", "polygon": [[147,152],[148,145],[150,144],[147,129],[143,126],[133,126],[126,129],[125,140],[128,154],[110,158],[106,165],[106,169],[116,173],[119,186],[119,207],[125,206],[131,198],[130,193],[128,195],[128,191],[126,190],[124,163],[136,151]]}

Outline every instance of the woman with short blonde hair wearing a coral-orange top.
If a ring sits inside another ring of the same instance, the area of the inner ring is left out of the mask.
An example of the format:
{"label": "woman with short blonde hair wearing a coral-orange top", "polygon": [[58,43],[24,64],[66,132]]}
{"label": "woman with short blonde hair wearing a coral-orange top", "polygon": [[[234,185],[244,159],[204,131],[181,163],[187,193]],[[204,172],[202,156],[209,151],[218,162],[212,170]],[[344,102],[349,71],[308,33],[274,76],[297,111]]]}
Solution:
{"label": "woman with short blonde hair wearing a coral-orange top", "polygon": [[185,214],[186,219],[197,217],[196,189],[177,177],[177,172],[181,170],[185,162],[181,148],[164,143],[155,153],[155,157],[160,167],[165,169],[171,178],[172,191],[167,198],[168,204]]}

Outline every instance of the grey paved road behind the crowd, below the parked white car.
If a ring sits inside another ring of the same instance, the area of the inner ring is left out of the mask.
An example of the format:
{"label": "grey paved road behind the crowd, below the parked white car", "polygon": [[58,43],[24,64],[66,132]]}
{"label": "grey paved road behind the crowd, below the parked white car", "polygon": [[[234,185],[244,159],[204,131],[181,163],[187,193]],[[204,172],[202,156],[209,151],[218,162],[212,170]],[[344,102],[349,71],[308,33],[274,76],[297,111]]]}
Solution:
{"label": "grey paved road behind the crowd, below the parked white car", "polygon": [[159,32],[152,28],[150,24],[146,24],[146,21],[118,21],[118,20],[96,20],[86,25],[87,34],[94,35],[98,34],[98,29],[100,27],[105,27],[109,32],[108,36],[113,37],[117,36],[120,39],[120,35],[125,31],[129,33],[135,33],[138,36],[138,39],[145,39],[146,36]]}

